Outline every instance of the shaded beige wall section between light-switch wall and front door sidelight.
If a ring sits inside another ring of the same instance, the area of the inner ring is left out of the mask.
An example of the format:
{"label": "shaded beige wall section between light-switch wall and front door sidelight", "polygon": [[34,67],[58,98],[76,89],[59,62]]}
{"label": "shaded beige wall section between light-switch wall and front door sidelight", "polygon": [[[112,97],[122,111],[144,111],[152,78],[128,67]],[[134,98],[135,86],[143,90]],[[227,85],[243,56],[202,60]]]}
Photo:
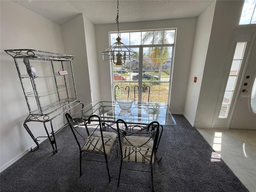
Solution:
{"label": "shaded beige wall section between light-switch wall and front door sidelight", "polygon": [[212,31],[202,77],[194,127],[211,128],[219,90],[228,63],[232,33],[238,26],[244,1],[216,1]]}

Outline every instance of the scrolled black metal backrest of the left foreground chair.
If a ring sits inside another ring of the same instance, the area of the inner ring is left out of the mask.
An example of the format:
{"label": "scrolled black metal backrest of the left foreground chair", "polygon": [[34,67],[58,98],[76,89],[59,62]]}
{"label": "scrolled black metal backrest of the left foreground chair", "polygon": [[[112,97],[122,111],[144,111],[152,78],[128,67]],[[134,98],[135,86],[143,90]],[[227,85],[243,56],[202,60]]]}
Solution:
{"label": "scrolled black metal backrest of the left foreground chair", "polygon": [[[66,119],[68,120],[68,124],[74,134],[76,142],[79,146],[79,149],[82,149],[82,144],[87,140],[92,140],[90,136],[92,136],[95,132],[100,132],[102,146],[103,146],[103,153],[106,153],[105,145],[104,145],[104,138],[102,134],[102,122],[100,117],[97,115],[91,115],[88,120],[80,119],[80,118],[72,118],[72,116],[68,113],[65,114]],[[98,153],[101,153],[101,150],[98,150]]]}

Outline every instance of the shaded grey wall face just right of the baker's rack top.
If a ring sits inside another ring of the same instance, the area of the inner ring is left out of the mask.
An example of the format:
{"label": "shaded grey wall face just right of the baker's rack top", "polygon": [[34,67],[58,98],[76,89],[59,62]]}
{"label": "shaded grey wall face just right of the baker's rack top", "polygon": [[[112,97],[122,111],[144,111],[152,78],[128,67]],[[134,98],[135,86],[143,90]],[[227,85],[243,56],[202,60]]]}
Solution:
{"label": "shaded grey wall face just right of the baker's rack top", "polygon": [[92,102],[88,68],[84,16],[80,14],[61,26],[65,52],[74,55],[72,61],[77,98],[85,105]]}

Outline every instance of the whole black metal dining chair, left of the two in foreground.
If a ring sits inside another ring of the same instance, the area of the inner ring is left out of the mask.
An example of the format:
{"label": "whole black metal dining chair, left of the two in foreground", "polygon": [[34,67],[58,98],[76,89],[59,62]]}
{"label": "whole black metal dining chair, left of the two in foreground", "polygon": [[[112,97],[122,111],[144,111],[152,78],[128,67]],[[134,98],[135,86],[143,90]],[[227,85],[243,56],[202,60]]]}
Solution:
{"label": "whole black metal dining chair, left of the two in foreground", "polygon": [[115,148],[117,152],[117,134],[103,131],[102,122],[97,115],[90,116],[88,121],[80,118],[73,119],[68,113],[65,116],[79,147],[80,176],[82,176],[82,154],[97,154],[105,158],[105,161],[100,160],[100,158],[95,161],[106,163],[110,182],[108,162]]}

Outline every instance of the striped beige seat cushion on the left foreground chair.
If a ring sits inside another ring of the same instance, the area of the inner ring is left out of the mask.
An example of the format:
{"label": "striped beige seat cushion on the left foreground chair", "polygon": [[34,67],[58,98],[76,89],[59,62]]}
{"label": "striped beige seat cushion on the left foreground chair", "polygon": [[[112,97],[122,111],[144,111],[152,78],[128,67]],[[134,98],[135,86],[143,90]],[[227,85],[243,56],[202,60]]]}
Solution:
{"label": "striped beige seat cushion on the left foreground chair", "polygon": [[[106,154],[109,154],[112,146],[114,145],[117,134],[105,131],[103,131],[102,134],[104,138]],[[82,147],[82,151],[91,153],[104,153],[100,131],[96,131],[93,134],[90,134],[88,138],[86,138],[84,146]]]}

